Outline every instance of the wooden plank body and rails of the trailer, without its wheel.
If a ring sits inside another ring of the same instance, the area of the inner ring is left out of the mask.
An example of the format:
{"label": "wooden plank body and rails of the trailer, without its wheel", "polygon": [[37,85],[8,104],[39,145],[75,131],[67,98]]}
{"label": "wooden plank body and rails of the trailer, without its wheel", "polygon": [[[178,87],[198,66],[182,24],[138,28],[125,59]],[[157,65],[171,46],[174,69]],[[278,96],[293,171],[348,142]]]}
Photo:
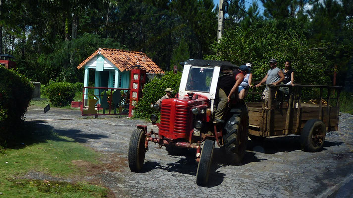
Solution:
{"label": "wooden plank body and rails of the trailer, without its wheel", "polygon": [[[326,130],[337,130],[338,114],[339,114],[339,95],[340,86],[326,85],[268,85],[269,96],[267,105],[260,107],[258,104],[248,102],[249,111],[249,134],[256,136],[273,136],[300,134],[306,121],[314,118],[321,119],[326,124]],[[281,108],[275,99],[275,94],[279,87],[289,87],[288,108]],[[318,105],[302,103],[303,88],[319,88],[320,95]],[[327,89],[327,97],[323,96],[323,90]],[[337,97],[331,97],[331,92],[337,90]],[[258,92],[249,92],[253,94]],[[327,105],[323,104],[323,99],[327,101]],[[336,99],[335,106],[330,106],[332,99]],[[303,115],[304,114],[304,115]],[[284,126],[283,126],[284,123]]]}

